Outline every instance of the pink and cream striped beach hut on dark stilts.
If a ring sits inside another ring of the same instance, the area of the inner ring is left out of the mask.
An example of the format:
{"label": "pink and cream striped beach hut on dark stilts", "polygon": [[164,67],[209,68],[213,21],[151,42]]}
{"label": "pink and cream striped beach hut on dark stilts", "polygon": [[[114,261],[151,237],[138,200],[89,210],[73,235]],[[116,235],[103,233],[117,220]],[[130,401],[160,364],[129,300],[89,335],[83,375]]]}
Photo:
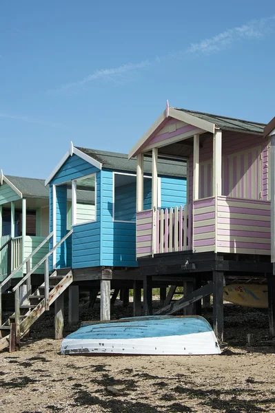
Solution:
{"label": "pink and cream striped beach hut on dark stilts", "polygon": [[[136,257],[144,277],[147,314],[152,314],[152,277],[192,276],[196,290],[175,305],[179,310],[191,300],[199,313],[201,298],[213,293],[214,331],[223,341],[225,283],[268,279],[270,284],[272,178],[270,136],[264,129],[263,123],[167,104],[130,151],[130,159],[137,157]],[[145,156],[152,156],[152,208],[147,211],[143,209]],[[181,208],[176,202],[169,211],[159,211],[159,160],[173,156],[187,160],[187,204]],[[149,229],[146,236],[141,235],[141,222]],[[160,314],[172,311],[170,306]],[[274,318],[270,323],[272,330]]]}

